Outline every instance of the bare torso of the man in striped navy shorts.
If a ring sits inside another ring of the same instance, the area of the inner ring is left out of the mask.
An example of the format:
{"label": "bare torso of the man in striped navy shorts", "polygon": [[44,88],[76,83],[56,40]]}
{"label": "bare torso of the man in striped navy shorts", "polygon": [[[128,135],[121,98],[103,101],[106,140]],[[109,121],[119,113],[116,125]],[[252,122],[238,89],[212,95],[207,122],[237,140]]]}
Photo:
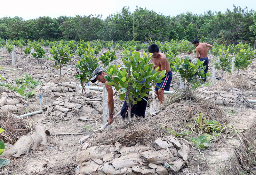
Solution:
{"label": "bare torso of the man in striped navy shorts", "polygon": [[164,54],[159,52],[156,54],[155,52],[151,60],[155,68],[159,66],[158,71],[166,70],[166,73],[171,71],[170,64]]}

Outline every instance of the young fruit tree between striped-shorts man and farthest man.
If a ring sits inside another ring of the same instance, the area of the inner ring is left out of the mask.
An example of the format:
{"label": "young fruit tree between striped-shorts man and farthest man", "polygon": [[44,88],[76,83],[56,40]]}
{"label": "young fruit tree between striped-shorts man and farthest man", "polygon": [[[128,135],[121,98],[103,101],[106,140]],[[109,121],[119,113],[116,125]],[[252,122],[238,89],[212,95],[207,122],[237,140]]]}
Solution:
{"label": "young fruit tree between striped-shorts man and farthest man", "polygon": [[197,60],[196,63],[191,63],[188,58],[185,60],[175,58],[174,65],[171,66],[171,69],[174,72],[180,74],[181,80],[186,84],[186,100],[188,96],[189,86],[197,88],[202,86],[200,81],[203,81],[202,78],[209,77],[211,74],[204,74],[204,69],[206,65],[203,66],[203,61]]}

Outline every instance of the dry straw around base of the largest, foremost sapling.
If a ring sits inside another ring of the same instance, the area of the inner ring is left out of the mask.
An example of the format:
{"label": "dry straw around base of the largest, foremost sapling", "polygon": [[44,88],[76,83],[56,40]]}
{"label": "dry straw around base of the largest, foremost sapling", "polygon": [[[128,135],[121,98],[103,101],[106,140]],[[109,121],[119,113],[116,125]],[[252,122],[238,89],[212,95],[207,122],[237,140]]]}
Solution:
{"label": "dry straw around base of the largest, foremost sapling", "polygon": [[112,128],[106,133],[93,136],[90,145],[114,145],[118,141],[122,146],[146,145],[150,147],[152,142],[162,135],[160,128],[148,119],[132,120],[131,128],[128,128],[127,122],[128,119],[116,118]]}

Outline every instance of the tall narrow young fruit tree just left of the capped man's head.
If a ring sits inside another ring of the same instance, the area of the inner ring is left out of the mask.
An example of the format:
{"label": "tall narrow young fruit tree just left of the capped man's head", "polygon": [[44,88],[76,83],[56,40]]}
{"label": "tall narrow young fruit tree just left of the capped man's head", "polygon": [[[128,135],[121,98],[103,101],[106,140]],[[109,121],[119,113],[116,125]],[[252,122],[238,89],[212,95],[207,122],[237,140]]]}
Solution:
{"label": "tall narrow young fruit tree just left of the capped man's head", "polygon": [[77,61],[76,67],[78,68],[77,74],[75,75],[76,79],[80,80],[80,84],[82,86],[82,94],[83,91],[86,95],[85,85],[92,78],[92,72],[96,67],[99,66],[99,60],[94,57],[94,50],[90,44],[87,44],[87,48],[85,48],[84,53],[80,56],[80,60]]}

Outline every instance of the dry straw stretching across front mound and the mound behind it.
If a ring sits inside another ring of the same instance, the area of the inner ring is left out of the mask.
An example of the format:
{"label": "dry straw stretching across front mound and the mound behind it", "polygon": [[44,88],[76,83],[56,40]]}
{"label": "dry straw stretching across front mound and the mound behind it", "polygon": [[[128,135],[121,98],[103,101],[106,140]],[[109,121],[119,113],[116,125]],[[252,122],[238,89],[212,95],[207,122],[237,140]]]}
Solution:
{"label": "dry straw stretching across front mound and the mound behind it", "polygon": [[197,102],[183,101],[184,95],[176,95],[176,97],[170,95],[168,99],[166,99],[165,104],[162,104],[162,108],[156,116],[133,117],[131,128],[128,128],[128,119],[116,118],[111,129],[92,136],[88,141],[89,144],[91,146],[114,145],[118,141],[122,146],[145,145],[151,147],[152,142],[158,137],[171,135],[170,132],[166,131],[166,127],[175,131],[186,130],[188,129],[187,125],[193,123],[193,118],[196,118],[200,113],[204,113],[203,117],[206,120],[228,123],[219,106],[203,99],[197,99]]}

